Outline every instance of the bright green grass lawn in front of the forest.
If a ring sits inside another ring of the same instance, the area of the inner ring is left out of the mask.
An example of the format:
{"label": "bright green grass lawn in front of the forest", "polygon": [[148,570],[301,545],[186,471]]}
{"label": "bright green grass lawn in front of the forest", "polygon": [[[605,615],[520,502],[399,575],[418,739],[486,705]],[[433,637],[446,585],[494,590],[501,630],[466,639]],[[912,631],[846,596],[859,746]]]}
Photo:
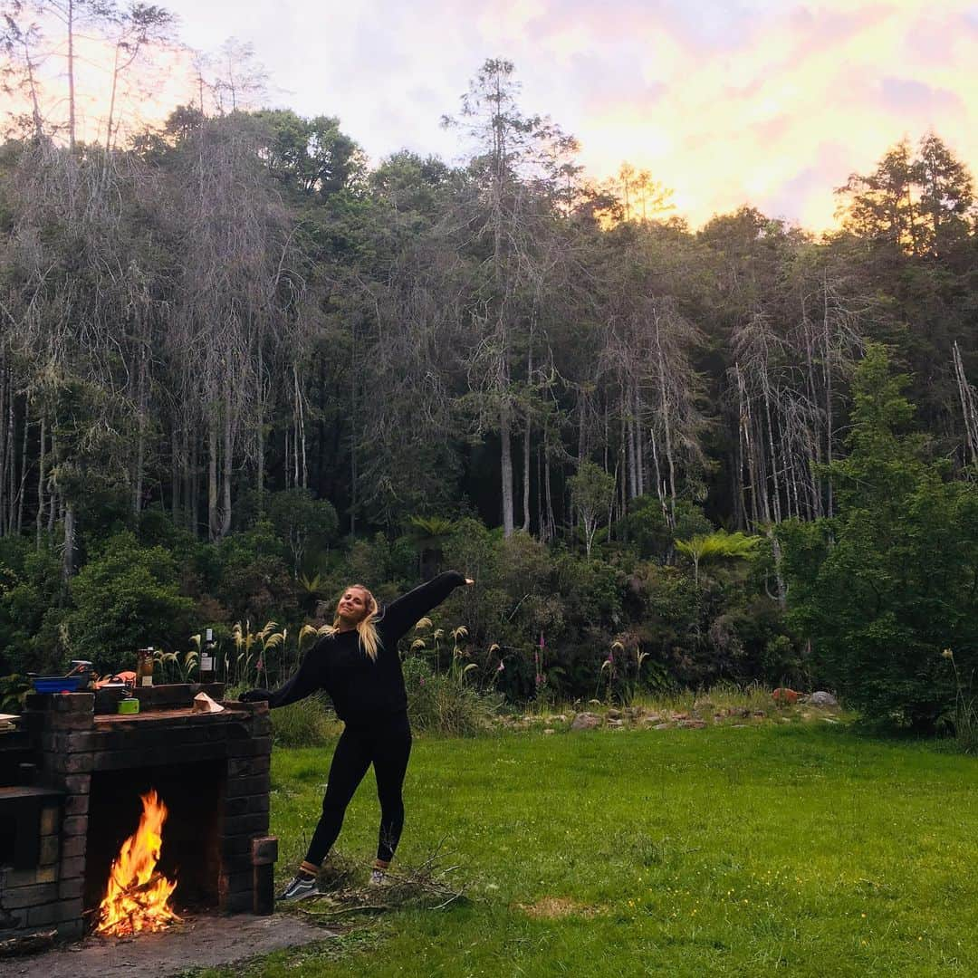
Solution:
{"label": "bright green grass lawn in front of the forest", "polygon": [[[331,752],[275,751],[283,877]],[[338,846],[363,878],[372,778]],[[973,759],[827,724],[417,739],[399,857],[445,838],[467,904],[248,973],[978,975],[976,789]]]}

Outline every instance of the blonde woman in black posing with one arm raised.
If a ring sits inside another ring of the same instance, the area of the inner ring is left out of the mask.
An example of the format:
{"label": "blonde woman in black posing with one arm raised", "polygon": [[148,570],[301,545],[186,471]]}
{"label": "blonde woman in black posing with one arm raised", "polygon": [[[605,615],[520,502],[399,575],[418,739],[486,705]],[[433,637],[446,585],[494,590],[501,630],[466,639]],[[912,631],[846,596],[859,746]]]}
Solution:
{"label": "blonde woman in black posing with one arm raised", "polygon": [[472,583],[457,571],[446,571],[393,601],[383,614],[370,591],[354,584],[336,604],[327,634],[309,649],[284,687],[274,691],[250,689],[242,694],[245,702],[264,700],[275,709],[325,689],[336,716],[346,725],[333,751],[323,814],[306,858],[280,900],[301,900],[319,893],[319,867],[339,835],[346,806],[372,764],[380,802],[380,830],[371,882],[382,882],[404,827],[401,792],[411,754],[408,694],[397,643],[457,587]]}

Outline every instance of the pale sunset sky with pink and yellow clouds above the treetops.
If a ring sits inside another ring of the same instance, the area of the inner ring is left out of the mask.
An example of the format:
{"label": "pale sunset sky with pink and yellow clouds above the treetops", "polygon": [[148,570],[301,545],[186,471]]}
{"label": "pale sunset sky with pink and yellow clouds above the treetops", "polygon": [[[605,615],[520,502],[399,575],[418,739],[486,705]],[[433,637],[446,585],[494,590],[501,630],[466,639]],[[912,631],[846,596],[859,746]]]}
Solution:
{"label": "pale sunset sky with pink and yellow clouds above the treetops", "polygon": [[439,122],[487,58],[522,108],[580,141],[602,179],[627,160],[698,227],[744,203],[813,231],[833,188],[933,130],[978,173],[978,0],[170,0],[180,36],[229,36],[270,102],[329,114],[378,162],[461,159]]}

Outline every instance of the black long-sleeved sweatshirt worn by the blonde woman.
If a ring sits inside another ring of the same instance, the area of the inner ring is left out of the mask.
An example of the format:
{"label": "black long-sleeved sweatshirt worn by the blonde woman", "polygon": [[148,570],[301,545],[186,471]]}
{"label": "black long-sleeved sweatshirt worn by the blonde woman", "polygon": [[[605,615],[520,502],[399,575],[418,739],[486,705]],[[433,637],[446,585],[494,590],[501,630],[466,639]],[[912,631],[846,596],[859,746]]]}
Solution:
{"label": "black long-sleeved sweatshirt worn by the blonde woman", "polygon": [[[356,629],[324,635],[306,652],[298,671],[281,689],[269,693],[273,709],[325,689],[336,716],[353,726],[369,726],[408,707],[398,640],[437,607],[466,579],[458,571],[444,574],[392,601],[377,619],[377,661],[360,647]],[[256,690],[257,691],[257,690]]]}

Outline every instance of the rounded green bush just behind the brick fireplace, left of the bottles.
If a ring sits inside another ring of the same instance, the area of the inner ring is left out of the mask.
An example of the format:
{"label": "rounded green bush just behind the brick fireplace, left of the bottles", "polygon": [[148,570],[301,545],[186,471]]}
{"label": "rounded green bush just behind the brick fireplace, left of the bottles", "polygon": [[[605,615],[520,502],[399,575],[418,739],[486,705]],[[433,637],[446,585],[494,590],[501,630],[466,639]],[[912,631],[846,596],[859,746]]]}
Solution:
{"label": "rounded green bush just behind the brick fireplace, left of the bottles", "polygon": [[182,645],[194,602],[179,593],[176,560],[161,547],[142,547],[134,534],[114,534],[71,583],[65,624],[75,658],[100,672],[131,665],[136,649]]}

